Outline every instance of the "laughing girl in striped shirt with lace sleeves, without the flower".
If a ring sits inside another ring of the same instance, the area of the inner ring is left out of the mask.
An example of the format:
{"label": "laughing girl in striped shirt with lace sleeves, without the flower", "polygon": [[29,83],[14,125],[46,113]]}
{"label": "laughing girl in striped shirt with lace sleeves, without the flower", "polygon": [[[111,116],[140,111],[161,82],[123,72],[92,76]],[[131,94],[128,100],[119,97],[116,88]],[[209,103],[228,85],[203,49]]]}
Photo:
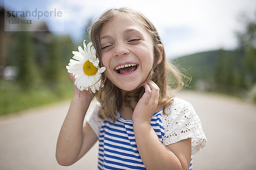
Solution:
{"label": "laughing girl in striped shirt with lace sleeves, without the flower", "polygon": [[106,68],[104,87],[98,87],[99,106],[83,125],[94,94],[74,86],[58,137],[58,163],[75,163],[99,140],[99,170],[191,169],[191,155],[207,140],[192,105],[167,92],[166,68],[175,91],[183,76],[166,62],[156,28],[138,11],[114,8],[90,33],[99,65]]}

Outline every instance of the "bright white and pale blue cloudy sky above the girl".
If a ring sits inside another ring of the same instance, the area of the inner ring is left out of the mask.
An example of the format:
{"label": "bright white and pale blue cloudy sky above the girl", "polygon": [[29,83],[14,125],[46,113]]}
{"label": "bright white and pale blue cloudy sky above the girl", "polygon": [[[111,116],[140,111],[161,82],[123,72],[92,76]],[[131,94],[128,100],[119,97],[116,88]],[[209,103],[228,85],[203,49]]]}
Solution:
{"label": "bright white and pale blue cloudy sky above the girl", "polygon": [[242,15],[256,19],[255,0],[0,0],[9,11],[61,11],[61,17],[41,17],[50,31],[84,38],[87,21],[112,7],[142,12],[157,28],[169,58],[209,50],[233,50],[236,32],[244,30]]}

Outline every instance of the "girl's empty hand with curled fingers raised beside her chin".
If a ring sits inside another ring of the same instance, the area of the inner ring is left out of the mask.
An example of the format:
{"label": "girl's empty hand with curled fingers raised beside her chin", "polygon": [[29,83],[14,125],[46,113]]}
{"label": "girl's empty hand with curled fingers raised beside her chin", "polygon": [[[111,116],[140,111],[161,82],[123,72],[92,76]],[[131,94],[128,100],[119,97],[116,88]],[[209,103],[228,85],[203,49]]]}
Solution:
{"label": "girl's empty hand with curled fingers raised beside her chin", "polygon": [[157,109],[158,99],[159,99],[159,87],[153,81],[147,82],[143,85],[145,88],[145,93],[140,98],[136,107],[134,108],[134,112],[132,115],[132,119],[134,123],[137,122],[151,122],[151,117]]}

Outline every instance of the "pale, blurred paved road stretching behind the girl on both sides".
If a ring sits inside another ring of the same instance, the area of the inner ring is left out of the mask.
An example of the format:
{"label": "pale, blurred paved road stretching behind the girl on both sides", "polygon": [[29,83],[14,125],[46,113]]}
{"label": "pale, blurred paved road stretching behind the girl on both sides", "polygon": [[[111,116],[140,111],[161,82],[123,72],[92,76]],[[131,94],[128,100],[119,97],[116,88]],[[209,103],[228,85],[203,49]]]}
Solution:
{"label": "pale, blurred paved road stretching behind the girl on both sides", "polygon": [[[182,92],[201,118],[208,144],[194,170],[256,169],[256,105],[239,99]],[[69,102],[0,117],[0,170],[95,170],[97,146],[70,167],[55,160],[58,132]]]}

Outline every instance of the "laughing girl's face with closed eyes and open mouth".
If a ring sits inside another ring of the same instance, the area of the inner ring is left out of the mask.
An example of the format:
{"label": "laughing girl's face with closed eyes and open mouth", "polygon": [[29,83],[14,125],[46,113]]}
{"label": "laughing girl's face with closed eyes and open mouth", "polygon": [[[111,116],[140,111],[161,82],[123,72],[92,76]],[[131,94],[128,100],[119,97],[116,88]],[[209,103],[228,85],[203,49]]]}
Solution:
{"label": "laughing girl's face with closed eyes and open mouth", "polygon": [[117,15],[102,27],[100,44],[106,76],[114,85],[132,91],[145,81],[153,66],[154,50],[141,23]]}

